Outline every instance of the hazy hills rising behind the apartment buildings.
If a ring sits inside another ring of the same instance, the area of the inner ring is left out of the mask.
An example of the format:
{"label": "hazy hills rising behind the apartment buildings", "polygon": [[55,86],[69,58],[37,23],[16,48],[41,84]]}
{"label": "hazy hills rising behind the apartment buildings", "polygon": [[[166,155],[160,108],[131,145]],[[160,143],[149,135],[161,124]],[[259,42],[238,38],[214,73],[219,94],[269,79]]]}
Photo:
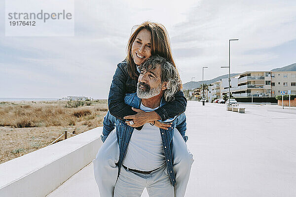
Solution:
{"label": "hazy hills rising behind the apartment buildings", "polygon": [[[289,65],[289,66],[274,68],[271,71],[273,71],[273,72],[275,72],[275,71],[296,71],[296,63]],[[240,74],[240,73],[232,73],[232,74],[230,74],[230,77],[238,75],[238,74]],[[224,79],[224,78],[228,78],[228,74],[224,74],[222,76],[216,77],[211,80],[204,80],[204,84],[211,84],[211,83],[214,83],[214,82],[219,81],[220,79]],[[190,89],[198,88],[200,86],[200,84],[202,84],[202,81],[189,81],[189,82],[183,84],[183,90],[190,90]]]}

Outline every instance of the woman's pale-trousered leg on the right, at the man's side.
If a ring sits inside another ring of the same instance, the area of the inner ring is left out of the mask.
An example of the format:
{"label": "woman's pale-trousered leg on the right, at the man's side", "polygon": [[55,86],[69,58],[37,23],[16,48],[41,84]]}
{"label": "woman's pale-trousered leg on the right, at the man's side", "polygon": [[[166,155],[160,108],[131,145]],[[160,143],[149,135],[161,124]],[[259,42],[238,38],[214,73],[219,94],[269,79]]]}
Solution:
{"label": "woman's pale-trousered leg on the right, at the man's side", "polygon": [[184,197],[191,165],[194,160],[193,155],[187,149],[187,145],[177,129],[174,130],[173,137],[173,161],[176,176],[175,197]]}

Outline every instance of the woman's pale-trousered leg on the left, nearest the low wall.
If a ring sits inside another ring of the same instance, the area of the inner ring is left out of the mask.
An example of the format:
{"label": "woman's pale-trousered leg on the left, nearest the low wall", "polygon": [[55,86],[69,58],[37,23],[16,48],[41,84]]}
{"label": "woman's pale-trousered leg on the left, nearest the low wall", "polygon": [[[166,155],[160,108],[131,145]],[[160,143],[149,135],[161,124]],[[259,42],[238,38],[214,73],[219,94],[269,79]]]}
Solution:
{"label": "woman's pale-trousered leg on the left, nearest the low wall", "polygon": [[101,197],[113,197],[114,186],[117,180],[119,160],[119,146],[116,130],[113,130],[99,149],[96,159],[93,160],[94,175]]}

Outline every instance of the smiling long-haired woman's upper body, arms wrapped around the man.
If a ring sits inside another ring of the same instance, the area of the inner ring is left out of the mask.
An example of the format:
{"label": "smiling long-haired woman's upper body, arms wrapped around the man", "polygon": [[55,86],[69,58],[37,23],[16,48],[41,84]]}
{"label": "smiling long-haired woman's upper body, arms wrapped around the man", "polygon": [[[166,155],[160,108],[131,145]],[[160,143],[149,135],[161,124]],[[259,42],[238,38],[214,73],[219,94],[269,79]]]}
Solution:
{"label": "smiling long-haired woman's upper body, arms wrapped around the man", "polygon": [[[174,100],[151,112],[132,109],[131,106],[124,103],[126,94],[137,91],[140,74],[138,68],[151,55],[162,56],[176,67],[165,27],[159,23],[144,22],[136,26],[136,30],[131,34],[127,45],[127,57],[117,65],[110,87],[107,116],[128,120],[126,123],[136,129],[141,128],[148,122],[165,121],[173,118],[185,112],[186,109],[187,100],[182,92],[182,84],[175,94]],[[170,127],[167,124],[157,124],[156,126],[162,129]],[[104,128],[103,141],[105,141],[111,130],[111,128]]]}

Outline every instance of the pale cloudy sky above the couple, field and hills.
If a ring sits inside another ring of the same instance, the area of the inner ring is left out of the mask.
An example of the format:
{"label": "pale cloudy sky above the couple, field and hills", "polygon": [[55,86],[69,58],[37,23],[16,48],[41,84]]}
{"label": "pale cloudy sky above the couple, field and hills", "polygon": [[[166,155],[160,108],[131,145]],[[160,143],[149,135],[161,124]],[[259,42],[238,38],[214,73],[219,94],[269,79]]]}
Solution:
{"label": "pale cloudy sky above the couple, field and hills", "polygon": [[[24,1],[25,3],[25,1]],[[295,0],[75,0],[74,36],[5,36],[0,0],[0,98],[107,99],[132,27],[162,23],[183,83],[296,63]]]}

